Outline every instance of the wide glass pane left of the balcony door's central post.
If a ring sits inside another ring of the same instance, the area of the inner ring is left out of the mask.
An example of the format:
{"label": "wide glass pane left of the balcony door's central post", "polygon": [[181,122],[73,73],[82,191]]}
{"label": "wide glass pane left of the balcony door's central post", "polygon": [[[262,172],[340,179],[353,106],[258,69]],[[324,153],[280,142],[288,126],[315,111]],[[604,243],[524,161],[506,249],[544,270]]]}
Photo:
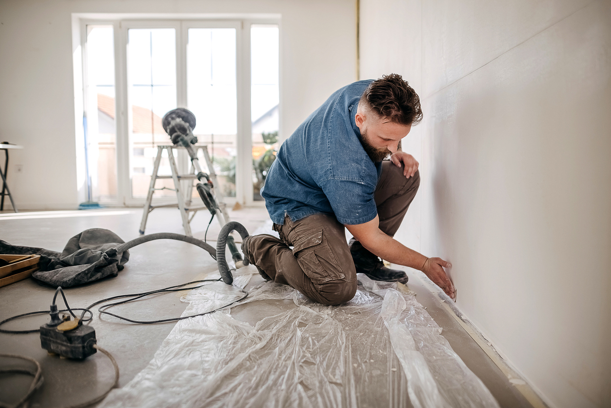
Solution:
{"label": "wide glass pane left of the balcony door's central post", "polygon": [[[145,198],[157,146],[172,144],[161,127],[161,118],[177,106],[175,29],[129,29],[127,57],[131,195]],[[158,174],[171,174],[167,157],[161,160]],[[174,188],[174,182],[161,179],[155,187]],[[175,194],[157,190],[153,197]]]}

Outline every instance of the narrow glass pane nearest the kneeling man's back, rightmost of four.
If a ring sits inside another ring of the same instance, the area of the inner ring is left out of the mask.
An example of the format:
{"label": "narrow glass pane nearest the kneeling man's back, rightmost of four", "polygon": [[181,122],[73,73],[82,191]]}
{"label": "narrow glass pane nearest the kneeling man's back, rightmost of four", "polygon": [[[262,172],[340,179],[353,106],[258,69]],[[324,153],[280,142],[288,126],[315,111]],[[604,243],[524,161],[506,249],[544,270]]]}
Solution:
{"label": "narrow glass pane nearest the kneeling man's back, rightmost of four", "polygon": [[253,199],[276,160],[279,125],[279,31],[277,24],[251,26],[251,121]]}

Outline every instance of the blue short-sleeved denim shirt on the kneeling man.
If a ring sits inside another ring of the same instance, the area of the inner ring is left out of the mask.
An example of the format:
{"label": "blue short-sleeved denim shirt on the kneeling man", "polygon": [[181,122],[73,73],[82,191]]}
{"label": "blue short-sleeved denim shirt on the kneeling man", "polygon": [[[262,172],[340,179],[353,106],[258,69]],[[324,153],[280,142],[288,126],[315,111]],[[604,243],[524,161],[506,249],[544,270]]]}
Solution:
{"label": "blue short-sleeved denim shirt on the kneeling man", "polygon": [[293,221],[334,214],[348,225],[376,217],[373,193],[382,163],[371,161],[354,122],[360,96],[371,82],[335,91],[280,146],[261,190],[274,223],[284,224],[285,213]]}

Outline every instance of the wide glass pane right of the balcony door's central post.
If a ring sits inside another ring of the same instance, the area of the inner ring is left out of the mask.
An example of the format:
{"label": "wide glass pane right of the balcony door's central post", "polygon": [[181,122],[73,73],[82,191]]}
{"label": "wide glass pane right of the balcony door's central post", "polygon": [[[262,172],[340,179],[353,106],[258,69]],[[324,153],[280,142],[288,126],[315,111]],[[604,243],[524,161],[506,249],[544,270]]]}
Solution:
{"label": "wide glass pane right of the balcony door's central post", "polygon": [[[193,133],[197,144],[208,146],[222,195],[235,197],[236,29],[189,28],[186,56],[188,108],[196,117]],[[206,171],[202,157],[200,165]]]}

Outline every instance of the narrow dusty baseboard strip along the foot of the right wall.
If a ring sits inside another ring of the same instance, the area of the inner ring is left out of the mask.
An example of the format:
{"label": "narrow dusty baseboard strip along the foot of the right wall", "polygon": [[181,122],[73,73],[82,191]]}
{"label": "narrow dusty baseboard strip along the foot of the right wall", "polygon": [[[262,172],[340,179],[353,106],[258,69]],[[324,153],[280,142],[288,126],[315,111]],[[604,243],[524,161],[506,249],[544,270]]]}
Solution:
{"label": "narrow dusty baseboard strip along the foot of the right wall", "polygon": [[475,343],[481,347],[481,349],[490,357],[492,362],[499,367],[500,371],[507,377],[507,380],[516,387],[527,401],[534,408],[551,408],[552,405],[549,402],[546,402],[541,398],[540,395],[542,393],[536,390],[533,385],[529,384],[529,382],[525,379],[525,376],[519,373],[519,370],[516,369],[507,358],[502,357],[499,352],[496,350],[494,345],[485,338],[485,336],[481,333],[481,330],[477,328],[473,322],[471,322],[464,313],[456,306],[456,303],[450,299],[448,295],[439,290],[433,282],[422,272],[419,270],[412,271],[414,275],[419,278],[420,282],[425,286],[431,293],[436,295],[437,299],[441,301],[442,307],[450,314],[450,316],[454,317],[461,327],[469,334],[469,336],[474,339]]}

